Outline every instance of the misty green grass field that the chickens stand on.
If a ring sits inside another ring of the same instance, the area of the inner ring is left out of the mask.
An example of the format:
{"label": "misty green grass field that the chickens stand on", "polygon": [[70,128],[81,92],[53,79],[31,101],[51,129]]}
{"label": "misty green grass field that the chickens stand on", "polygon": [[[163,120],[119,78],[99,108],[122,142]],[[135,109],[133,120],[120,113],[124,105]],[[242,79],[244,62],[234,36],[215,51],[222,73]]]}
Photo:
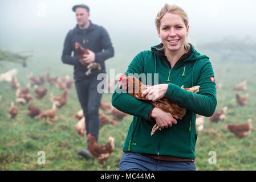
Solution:
{"label": "misty green grass field that the chickens stand on", "polygon": [[[255,132],[255,109],[256,109],[256,80],[255,63],[246,60],[221,60],[221,57],[209,53],[216,82],[222,83],[222,89],[217,94],[217,110],[227,106],[227,115],[224,122],[209,125],[209,118],[205,119],[204,130],[198,135],[196,143],[195,160],[197,170],[256,170],[256,132]],[[213,56],[211,56],[213,55]],[[116,55],[107,60],[107,72],[115,68],[115,73],[124,72],[129,61],[134,55]],[[46,55],[35,53],[30,61],[27,73],[33,71],[34,75],[40,75],[48,71],[51,76],[72,76],[72,67],[64,65],[59,55]],[[123,63],[120,63],[123,61]],[[43,64],[39,64],[43,63]],[[39,66],[40,65],[40,66]],[[0,73],[11,68],[18,68],[18,81],[23,84],[23,68],[21,65],[2,62]],[[249,104],[242,107],[237,105],[233,86],[247,79],[248,88],[241,94],[249,93]],[[33,103],[42,110],[51,107],[50,93],[60,95],[63,91],[55,86],[42,100],[34,99]],[[7,114],[10,102],[15,102],[15,91],[10,88],[9,82],[0,82],[0,170],[118,170],[119,160],[123,155],[123,144],[127,135],[132,116],[119,121],[117,126],[104,125],[100,129],[99,143],[107,142],[111,135],[115,138],[115,150],[111,157],[105,161],[101,168],[97,160],[86,160],[77,154],[78,150],[87,144],[86,138],[81,138],[75,131],[76,120],[72,115],[80,110],[75,88],[68,93],[67,105],[57,110],[59,117],[54,125],[47,125],[44,120],[31,119],[27,114],[27,105],[19,105],[19,114],[11,121]],[[31,88],[32,95],[34,89]],[[110,102],[111,93],[104,94],[102,101]],[[102,110],[100,110],[100,113]],[[108,115],[112,119],[111,115]],[[245,123],[248,118],[253,119],[253,130],[247,138],[239,139],[225,130],[225,125],[231,123]],[[38,164],[38,151],[46,154],[46,164]],[[217,155],[216,164],[209,164],[210,151]]]}

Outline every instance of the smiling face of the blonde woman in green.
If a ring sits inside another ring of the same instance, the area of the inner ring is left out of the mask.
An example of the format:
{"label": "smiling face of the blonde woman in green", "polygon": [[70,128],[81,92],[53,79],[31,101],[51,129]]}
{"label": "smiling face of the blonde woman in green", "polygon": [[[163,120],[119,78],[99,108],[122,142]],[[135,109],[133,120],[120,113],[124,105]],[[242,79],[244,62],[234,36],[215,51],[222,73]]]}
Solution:
{"label": "smiling face of the blonde woman in green", "polygon": [[184,48],[189,26],[186,27],[180,15],[166,13],[162,16],[160,28],[157,28],[159,38],[169,51],[178,51]]}

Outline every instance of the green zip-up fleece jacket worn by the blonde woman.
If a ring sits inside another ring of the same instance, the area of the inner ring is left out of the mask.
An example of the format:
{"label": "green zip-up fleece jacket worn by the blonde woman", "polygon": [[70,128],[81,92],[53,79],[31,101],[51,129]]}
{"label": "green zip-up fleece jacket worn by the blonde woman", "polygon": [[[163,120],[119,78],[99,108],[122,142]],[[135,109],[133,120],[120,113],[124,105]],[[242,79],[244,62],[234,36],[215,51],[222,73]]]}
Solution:
{"label": "green zip-up fleece jacket worn by the blonde woman", "polygon": [[[192,55],[186,60],[178,61],[170,69],[168,63],[158,55],[156,49],[158,46],[151,47],[151,51],[143,51],[136,55],[125,75],[146,73],[147,82],[144,84],[151,82],[152,85],[158,76],[158,84],[169,84],[164,97],[186,107],[186,114],[182,119],[177,119],[176,125],[157,130],[151,136],[152,127],[156,123],[148,121],[153,105],[137,100],[128,93],[118,92],[116,87],[112,96],[112,105],[134,116],[123,150],[195,159],[196,114],[210,117],[217,105],[212,64],[208,56],[201,55],[190,44]],[[151,73],[152,77],[148,73]],[[154,76],[154,73],[158,75]],[[200,91],[188,92],[181,89],[182,85],[184,88],[199,85]]]}

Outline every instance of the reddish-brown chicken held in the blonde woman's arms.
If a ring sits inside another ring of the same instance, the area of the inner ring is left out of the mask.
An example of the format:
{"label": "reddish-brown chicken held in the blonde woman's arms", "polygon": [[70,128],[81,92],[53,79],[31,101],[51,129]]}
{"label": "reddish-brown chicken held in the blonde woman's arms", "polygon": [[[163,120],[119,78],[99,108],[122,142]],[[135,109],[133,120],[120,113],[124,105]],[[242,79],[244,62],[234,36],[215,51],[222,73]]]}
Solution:
{"label": "reddish-brown chicken held in the blonde woman's arms", "polygon": [[[148,104],[153,104],[155,105],[155,107],[160,108],[166,113],[177,115],[179,119],[182,119],[182,117],[184,117],[186,113],[186,108],[177,105],[176,102],[173,102],[168,98],[163,97],[160,100],[153,102],[152,100],[147,100],[147,98],[141,97],[141,94],[144,92],[144,90],[146,90],[152,85],[144,85],[136,77],[126,76],[125,73],[121,75],[119,82],[120,82],[119,88],[122,87],[122,89],[127,90],[128,94],[137,98],[138,100],[147,102]],[[189,92],[197,93],[199,91],[199,88],[200,86],[193,86],[192,88],[183,88],[183,89]],[[161,130],[160,126],[157,123],[155,126],[153,126],[151,135],[155,134],[156,130]]]}

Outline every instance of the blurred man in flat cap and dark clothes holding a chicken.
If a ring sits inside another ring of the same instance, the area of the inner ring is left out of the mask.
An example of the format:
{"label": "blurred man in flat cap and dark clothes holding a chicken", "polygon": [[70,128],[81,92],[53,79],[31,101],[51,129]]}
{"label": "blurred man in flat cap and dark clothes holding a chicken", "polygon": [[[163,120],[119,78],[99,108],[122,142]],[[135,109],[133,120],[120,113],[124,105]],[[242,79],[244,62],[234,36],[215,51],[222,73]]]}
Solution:
{"label": "blurred man in flat cap and dark clothes holding a chicken", "polygon": [[[105,60],[114,55],[111,39],[108,32],[102,26],[98,26],[89,20],[90,9],[87,5],[75,5],[72,10],[76,14],[78,24],[70,30],[64,41],[62,62],[74,65],[74,80],[80,105],[86,118],[86,131],[96,138],[99,136],[100,120],[99,107],[101,93],[97,92],[97,80],[99,73],[105,73]],[[83,48],[89,49],[83,60],[76,55],[75,43],[78,42]],[[74,56],[71,53],[74,52]],[[90,75],[86,75],[85,64],[99,63],[101,69],[92,69]],[[87,141],[88,143],[88,141]],[[87,147],[78,154],[90,158],[91,154]]]}

